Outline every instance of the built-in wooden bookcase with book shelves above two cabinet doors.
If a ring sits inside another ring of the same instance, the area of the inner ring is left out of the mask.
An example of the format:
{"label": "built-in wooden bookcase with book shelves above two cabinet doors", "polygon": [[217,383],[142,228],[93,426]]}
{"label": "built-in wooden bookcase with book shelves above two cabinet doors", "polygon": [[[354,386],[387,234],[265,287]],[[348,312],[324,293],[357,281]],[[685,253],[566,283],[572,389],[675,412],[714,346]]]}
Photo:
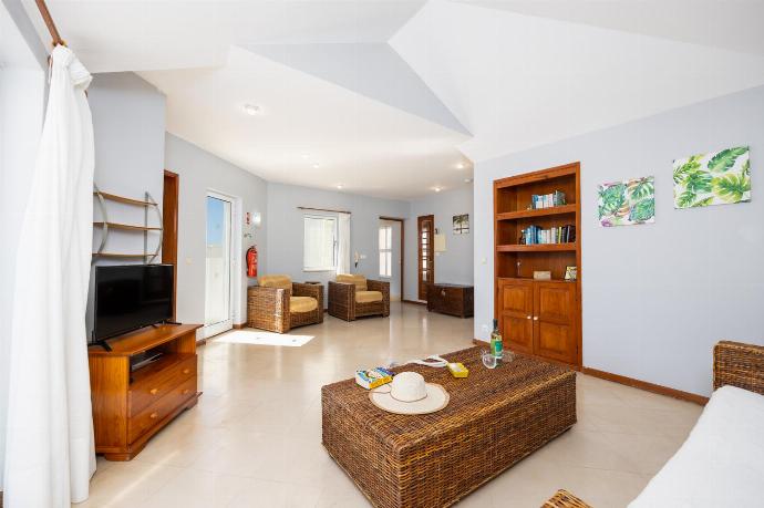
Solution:
{"label": "built-in wooden bookcase with book shelves above two cabinet doors", "polygon": [[[581,364],[580,164],[494,182],[495,317],[508,349]],[[534,195],[565,193],[565,205],[531,208]],[[575,240],[523,242],[523,231],[575,226]],[[578,281],[565,281],[577,267]],[[550,281],[534,280],[550,271]]]}

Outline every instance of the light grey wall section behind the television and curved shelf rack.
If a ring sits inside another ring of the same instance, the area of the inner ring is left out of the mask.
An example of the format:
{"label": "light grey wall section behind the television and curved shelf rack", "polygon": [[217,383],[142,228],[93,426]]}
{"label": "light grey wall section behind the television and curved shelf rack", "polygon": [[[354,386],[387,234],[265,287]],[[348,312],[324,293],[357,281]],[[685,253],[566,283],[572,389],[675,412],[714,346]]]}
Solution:
{"label": "light grey wall section behind the television and curved shelf rack", "polygon": [[[164,188],[165,96],[132,72],[96,74],[87,95],[95,138],[95,185],[104,193],[144,199],[148,191],[162,209]],[[143,207],[106,203],[109,220],[142,225]],[[102,216],[97,203],[94,216]],[[158,218],[149,215],[149,224]],[[149,250],[158,235],[149,234]],[[101,240],[93,234],[93,247]],[[104,249],[110,252],[143,252],[143,235],[113,230]],[[102,259],[97,265],[127,265],[140,260]],[[155,260],[159,262],[159,260]],[[87,330],[92,330],[93,277],[87,304]]]}

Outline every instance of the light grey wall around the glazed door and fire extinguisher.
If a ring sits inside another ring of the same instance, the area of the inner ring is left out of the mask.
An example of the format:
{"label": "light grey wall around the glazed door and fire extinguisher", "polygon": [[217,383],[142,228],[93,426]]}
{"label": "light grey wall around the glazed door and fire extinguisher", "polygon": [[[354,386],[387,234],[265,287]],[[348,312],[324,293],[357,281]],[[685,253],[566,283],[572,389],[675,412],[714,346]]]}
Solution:
{"label": "light grey wall around the glazed door and fire extinguisher", "polygon": [[166,136],[165,160],[168,170],[180,178],[178,203],[178,286],[177,319],[187,323],[204,323],[206,273],[206,220],[208,190],[241,199],[242,211],[262,214],[264,226],[245,227],[242,232],[255,236],[242,239],[241,252],[235,270],[239,270],[240,304],[236,323],[247,320],[247,284],[254,283],[245,272],[244,257],[254,243],[258,247],[258,270],[266,270],[266,219],[268,208],[267,184],[264,179],[223,160],[172,134]]}

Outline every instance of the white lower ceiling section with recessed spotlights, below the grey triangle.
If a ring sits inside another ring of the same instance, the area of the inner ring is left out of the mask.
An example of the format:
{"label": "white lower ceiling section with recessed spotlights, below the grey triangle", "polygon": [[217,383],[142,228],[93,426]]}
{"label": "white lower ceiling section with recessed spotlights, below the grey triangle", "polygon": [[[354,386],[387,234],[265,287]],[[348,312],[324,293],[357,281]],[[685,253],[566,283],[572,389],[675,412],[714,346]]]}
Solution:
{"label": "white lower ceiling section with recessed spotlights, below the grey triangle", "polygon": [[405,199],[472,176],[467,135],[241,48],[217,69],[140,75],[166,94],[168,132],[271,182]]}

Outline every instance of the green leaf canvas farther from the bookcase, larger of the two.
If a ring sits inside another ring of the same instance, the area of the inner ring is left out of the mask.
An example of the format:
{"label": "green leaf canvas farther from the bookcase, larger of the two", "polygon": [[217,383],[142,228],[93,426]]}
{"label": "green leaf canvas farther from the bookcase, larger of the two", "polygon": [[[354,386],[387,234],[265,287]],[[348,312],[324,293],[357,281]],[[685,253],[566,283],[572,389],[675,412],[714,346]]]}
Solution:
{"label": "green leaf canvas farther from the bookcase, larger of the two", "polygon": [[674,208],[751,200],[747,146],[674,160]]}

